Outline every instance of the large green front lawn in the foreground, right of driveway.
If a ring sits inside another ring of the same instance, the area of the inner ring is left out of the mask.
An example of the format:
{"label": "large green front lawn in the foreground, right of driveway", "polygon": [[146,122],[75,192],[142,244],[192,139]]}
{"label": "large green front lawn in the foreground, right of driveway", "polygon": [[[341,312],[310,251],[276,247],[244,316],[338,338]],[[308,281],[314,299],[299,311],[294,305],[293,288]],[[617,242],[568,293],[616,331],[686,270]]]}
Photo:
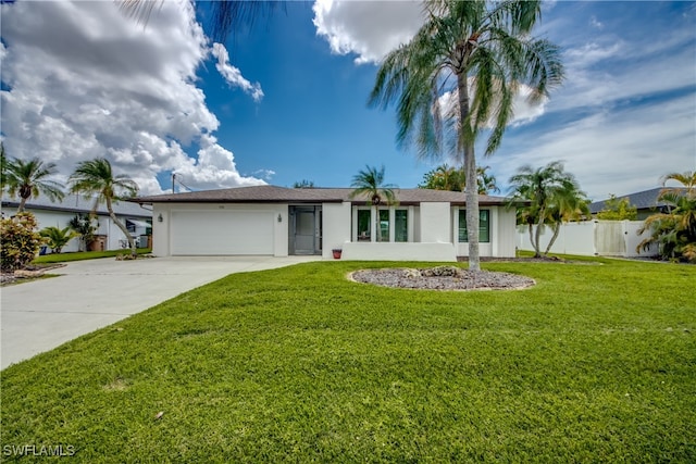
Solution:
{"label": "large green front lawn in the foreground, right of driveway", "polygon": [[505,292],[345,278],[385,265],[232,275],[11,366],[3,459],[696,462],[696,266],[484,263],[537,280]]}

